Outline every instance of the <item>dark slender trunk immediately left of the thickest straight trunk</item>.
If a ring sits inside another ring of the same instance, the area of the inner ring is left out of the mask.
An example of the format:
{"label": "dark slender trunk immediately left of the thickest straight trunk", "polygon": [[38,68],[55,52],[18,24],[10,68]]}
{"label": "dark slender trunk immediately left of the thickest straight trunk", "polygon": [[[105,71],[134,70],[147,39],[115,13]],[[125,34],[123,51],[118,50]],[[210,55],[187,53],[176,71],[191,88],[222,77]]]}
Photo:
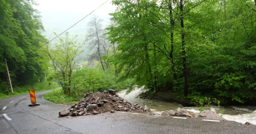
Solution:
{"label": "dark slender trunk immediately left of the thickest straight trunk", "polygon": [[173,72],[173,78],[177,80],[177,73],[174,68],[174,62],[173,62],[173,30],[174,30],[174,20],[172,15],[172,3],[169,0],[169,15],[170,15],[170,25],[171,25],[171,51],[170,51],[170,59],[172,64],[172,72]]}

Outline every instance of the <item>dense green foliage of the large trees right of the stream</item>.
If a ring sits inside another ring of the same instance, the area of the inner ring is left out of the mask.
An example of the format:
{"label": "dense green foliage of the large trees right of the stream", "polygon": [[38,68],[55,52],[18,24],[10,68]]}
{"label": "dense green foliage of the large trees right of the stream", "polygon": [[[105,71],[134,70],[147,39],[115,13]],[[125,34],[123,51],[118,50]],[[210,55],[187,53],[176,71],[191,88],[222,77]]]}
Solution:
{"label": "dense green foliage of the large trees right of the stream", "polygon": [[134,78],[133,84],[145,85],[152,93],[169,90],[181,95],[185,57],[180,37],[184,33],[189,97],[197,104],[211,101],[201,96],[216,98],[224,105],[255,104],[254,1],[186,1],[184,28],[178,21],[180,1],[112,3],[117,10],[110,13],[115,25],[107,28],[108,39],[119,46],[110,62],[122,72],[120,80]]}

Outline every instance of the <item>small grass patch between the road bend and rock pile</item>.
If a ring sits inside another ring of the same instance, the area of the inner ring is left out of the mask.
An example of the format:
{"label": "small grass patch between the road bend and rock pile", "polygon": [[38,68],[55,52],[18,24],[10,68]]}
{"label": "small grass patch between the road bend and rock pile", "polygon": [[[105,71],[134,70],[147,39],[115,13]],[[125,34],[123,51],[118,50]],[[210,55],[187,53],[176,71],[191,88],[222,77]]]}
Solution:
{"label": "small grass patch between the road bend and rock pile", "polygon": [[44,99],[50,102],[64,104],[64,105],[73,105],[78,102],[82,97],[74,97],[64,95],[63,90],[53,90],[44,95]]}

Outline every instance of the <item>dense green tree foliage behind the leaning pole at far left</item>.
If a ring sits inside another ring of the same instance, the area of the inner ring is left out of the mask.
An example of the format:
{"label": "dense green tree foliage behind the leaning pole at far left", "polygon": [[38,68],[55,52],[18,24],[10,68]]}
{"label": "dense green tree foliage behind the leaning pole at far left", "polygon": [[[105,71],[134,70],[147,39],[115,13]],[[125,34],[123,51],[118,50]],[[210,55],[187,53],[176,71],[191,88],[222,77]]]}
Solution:
{"label": "dense green tree foliage behind the leaning pole at far left", "polygon": [[45,38],[41,35],[44,31],[41,16],[34,5],[33,0],[0,1],[1,85],[6,81],[5,59],[13,87],[42,82],[44,74],[48,73],[48,59],[37,49]]}

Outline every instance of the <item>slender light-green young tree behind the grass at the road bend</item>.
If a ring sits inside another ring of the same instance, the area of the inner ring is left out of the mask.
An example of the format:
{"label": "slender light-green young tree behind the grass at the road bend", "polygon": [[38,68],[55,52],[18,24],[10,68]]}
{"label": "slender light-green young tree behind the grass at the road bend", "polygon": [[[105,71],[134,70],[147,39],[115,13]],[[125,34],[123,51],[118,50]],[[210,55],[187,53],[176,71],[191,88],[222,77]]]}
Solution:
{"label": "slender light-green young tree behind the grass at the road bend", "polygon": [[44,52],[49,56],[55,76],[61,82],[62,89],[67,95],[72,95],[72,72],[76,69],[78,55],[83,52],[81,48],[85,45],[85,43],[77,43],[76,37],[69,38],[66,32],[65,38],[58,37],[57,43],[43,46]]}

